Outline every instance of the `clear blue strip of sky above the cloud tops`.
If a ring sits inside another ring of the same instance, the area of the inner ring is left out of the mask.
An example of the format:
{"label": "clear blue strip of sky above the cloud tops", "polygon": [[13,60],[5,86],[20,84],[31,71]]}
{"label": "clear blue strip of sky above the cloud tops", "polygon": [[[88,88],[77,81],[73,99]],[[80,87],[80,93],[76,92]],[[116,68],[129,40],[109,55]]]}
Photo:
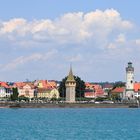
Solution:
{"label": "clear blue strip of sky above the cloud tops", "polygon": [[0,17],[10,19],[23,17],[26,19],[57,18],[68,12],[89,12],[95,9],[117,9],[123,17],[140,22],[139,0],[1,0]]}

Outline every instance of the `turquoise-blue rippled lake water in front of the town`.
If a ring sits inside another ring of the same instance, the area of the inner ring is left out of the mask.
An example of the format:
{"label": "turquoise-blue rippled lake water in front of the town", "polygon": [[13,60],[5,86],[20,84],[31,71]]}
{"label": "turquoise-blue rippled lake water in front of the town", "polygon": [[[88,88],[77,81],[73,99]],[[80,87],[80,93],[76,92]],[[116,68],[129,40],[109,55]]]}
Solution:
{"label": "turquoise-blue rippled lake water in front of the town", "polygon": [[140,140],[140,109],[0,109],[0,140]]}

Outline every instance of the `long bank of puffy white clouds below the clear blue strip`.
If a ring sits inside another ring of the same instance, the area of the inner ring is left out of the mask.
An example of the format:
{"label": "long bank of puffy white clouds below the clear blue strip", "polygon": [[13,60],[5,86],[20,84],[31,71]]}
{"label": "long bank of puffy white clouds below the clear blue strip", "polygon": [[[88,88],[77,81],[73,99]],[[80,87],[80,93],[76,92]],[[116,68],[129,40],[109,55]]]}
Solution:
{"label": "long bank of puffy white clouds below the clear blue strip", "polygon": [[133,27],[114,9],[89,13],[67,13],[50,20],[27,21],[15,18],[1,23],[0,36],[18,42],[83,43],[88,40],[104,42],[112,32],[118,34]]}

